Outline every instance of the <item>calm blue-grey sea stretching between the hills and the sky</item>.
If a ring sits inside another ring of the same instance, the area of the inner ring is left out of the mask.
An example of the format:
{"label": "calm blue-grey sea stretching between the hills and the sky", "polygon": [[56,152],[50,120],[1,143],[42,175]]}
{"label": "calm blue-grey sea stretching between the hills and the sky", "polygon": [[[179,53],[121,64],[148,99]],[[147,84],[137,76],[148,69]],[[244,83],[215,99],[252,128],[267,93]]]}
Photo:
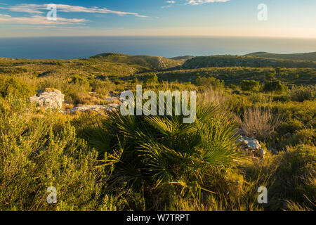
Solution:
{"label": "calm blue-grey sea stretching between the hills and the sky", "polygon": [[0,57],[88,58],[100,53],[150,56],[244,55],[316,51],[316,39],[258,37],[14,37],[0,38]]}

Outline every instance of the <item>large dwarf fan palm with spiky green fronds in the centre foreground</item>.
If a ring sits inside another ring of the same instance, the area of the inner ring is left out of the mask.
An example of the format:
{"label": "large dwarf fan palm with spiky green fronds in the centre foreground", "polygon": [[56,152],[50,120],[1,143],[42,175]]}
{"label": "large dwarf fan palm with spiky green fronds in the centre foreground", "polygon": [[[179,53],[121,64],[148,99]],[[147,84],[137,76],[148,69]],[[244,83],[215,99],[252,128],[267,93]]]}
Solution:
{"label": "large dwarf fan palm with spiky green fronds in the centre foreground", "polygon": [[156,188],[180,186],[183,195],[196,195],[197,191],[209,191],[206,176],[210,169],[228,167],[240,156],[235,122],[220,115],[213,104],[199,105],[197,120],[192,124],[183,124],[183,116],[174,114],[120,113],[112,113],[103,124],[112,152],[123,149],[115,171],[129,177],[133,184],[147,181]]}

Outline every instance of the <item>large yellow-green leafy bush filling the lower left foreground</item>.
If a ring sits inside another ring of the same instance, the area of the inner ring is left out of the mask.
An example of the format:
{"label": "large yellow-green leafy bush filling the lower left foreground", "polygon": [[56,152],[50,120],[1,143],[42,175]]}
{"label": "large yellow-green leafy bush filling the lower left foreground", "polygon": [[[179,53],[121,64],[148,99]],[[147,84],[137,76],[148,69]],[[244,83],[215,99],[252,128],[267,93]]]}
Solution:
{"label": "large yellow-green leafy bush filling the lower left foreground", "polygon": [[[55,111],[39,115],[25,100],[0,99],[0,158],[0,210],[109,207],[103,204],[107,173],[98,153]],[[46,202],[50,186],[58,204]]]}

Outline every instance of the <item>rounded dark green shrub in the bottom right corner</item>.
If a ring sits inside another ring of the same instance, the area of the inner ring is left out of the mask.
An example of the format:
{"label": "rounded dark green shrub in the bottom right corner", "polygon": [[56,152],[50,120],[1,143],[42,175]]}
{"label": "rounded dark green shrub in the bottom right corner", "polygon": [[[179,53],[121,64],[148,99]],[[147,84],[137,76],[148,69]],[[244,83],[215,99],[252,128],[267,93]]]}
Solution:
{"label": "rounded dark green shrub in the bottom right corner", "polygon": [[275,156],[267,186],[270,210],[291,210],[289,202],[316,210],[315,150],[312,146],[298,146]]}

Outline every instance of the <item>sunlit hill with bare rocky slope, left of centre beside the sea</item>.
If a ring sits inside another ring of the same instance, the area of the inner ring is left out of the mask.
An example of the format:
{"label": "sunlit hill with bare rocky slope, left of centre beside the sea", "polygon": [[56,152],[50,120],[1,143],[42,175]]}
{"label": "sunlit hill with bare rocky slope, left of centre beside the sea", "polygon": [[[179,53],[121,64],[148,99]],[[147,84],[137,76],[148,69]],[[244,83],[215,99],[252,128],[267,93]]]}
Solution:
{"label": "sunlit hill with bare rocky slope, left of centre beside the sea", "polygon": [[186,59],[172,59],[161,56],[130,56],[120,53],[103,53],[91,58],[110,63],[138,65],[148,70],[166,70],[176,68],[185,63]]}

